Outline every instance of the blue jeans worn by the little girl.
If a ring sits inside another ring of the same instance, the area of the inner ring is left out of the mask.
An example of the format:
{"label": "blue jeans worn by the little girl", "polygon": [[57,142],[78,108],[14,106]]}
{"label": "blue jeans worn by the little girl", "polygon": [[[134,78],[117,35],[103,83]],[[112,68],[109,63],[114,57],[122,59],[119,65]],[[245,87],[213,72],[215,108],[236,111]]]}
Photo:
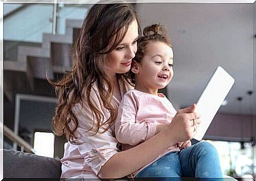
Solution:
{"label": "blue jeans worn by the little girl", "polygon": [[171,152],[159,158],[136,176],[141,177],[173,177],[172,180],[197,177],[200,180],[222,180],[223,175],[215,147],[208,142],[199,142],[181,152]]}

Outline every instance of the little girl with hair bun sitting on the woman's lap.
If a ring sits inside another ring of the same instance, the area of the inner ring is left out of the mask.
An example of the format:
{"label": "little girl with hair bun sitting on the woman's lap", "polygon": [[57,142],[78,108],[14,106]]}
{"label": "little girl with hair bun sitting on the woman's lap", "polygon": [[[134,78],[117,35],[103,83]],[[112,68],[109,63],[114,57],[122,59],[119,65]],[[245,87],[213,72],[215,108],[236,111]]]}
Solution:
{"label": "little girl with hair bun sitting on the woman's lap", "polygon": [[[147,26],[144,36],[138,39],[138,51],[129,72],[135,89],[122,98],[115,123],[116,138],[122,143],[122,150],[130,149],[172,125],[177,113],[165,95],[158,93],[174,74],[173,49],[166,33],[163,26],[155,24]],[[195,134],[200,120],[187,121],[191,126],[186,129]],[[137,170],[132,177],[207,177],[207,180],[216,180],[216,177],[222,177],[222,172],[219,156],[210,143],[191,146],[190,140],[183,143],[177,139],[177,144]]]}

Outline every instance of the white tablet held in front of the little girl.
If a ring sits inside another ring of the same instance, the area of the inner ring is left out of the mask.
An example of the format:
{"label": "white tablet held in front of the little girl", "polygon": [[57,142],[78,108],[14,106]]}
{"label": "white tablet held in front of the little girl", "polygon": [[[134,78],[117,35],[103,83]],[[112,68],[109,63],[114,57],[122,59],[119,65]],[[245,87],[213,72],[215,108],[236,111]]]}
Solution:
{"label": "white tablet held in front of the little girl", "polygon": [[203,138],[233,84],[234,78],[221,66],[215,69],[210,81],[208,81],[203,93],[196,103],[196,112],[201,116],[201,124],[197,128],[197,133],[194,136],[194,139],[201,140]]}

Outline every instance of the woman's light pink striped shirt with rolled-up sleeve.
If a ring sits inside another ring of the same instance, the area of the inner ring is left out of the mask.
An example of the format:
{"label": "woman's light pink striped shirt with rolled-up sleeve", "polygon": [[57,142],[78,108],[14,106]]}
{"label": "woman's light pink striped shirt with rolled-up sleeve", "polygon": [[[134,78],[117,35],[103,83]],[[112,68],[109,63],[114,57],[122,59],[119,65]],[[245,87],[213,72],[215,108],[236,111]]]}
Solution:
{"label": "woman's light pink striped shirt with rolled-up sleeve", "polygon": [[[121,95],[124,95],[131,86],[122,84],[119,81]],[[91,91],[91,98],[94,105],[100,108],[100,112],[104,116],[104,122],[110,117],[110,113],[102,105],[97,87],[94,85]],[[115,97],[112,98],[112,103],[117,106],[120,104]],[[61,178],[98,178],[98,173],[102,167],[113,155],[118,153],[118,141],[115,137],[113,125],[105,133],[97,133],[89,130],[93,124],[92,112],[87,102],[78,103],[73,107],[73,112],[78,118],[79,127],[75,131],[80,145],[74,145],[68,142],[64,150],[62,163]],[[102,132],[100,128],[99,132]]]}

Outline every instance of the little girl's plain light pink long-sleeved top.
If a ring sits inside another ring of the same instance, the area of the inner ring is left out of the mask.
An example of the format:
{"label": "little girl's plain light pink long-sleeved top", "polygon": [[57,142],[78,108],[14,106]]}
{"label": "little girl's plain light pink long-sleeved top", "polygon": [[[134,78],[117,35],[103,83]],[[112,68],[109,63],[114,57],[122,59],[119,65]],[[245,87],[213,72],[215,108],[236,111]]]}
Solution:
{"label": "little girl's plain light pink long-sleeved top", "polygon": [[[122,150],[134,147],[153,137],[156,133],[156,126],[172,122],[176,113],[172,103],[162,93],[152,95],[136,89],[129,90],[121,100],[115,122],[115,134],[118,142],[122,143]],[[176,144],[170,146],[155,160],[169,152],[179,152],[179,148]],[[151,163],[133,173],[132,176],[136,176],[140,170]]]}

